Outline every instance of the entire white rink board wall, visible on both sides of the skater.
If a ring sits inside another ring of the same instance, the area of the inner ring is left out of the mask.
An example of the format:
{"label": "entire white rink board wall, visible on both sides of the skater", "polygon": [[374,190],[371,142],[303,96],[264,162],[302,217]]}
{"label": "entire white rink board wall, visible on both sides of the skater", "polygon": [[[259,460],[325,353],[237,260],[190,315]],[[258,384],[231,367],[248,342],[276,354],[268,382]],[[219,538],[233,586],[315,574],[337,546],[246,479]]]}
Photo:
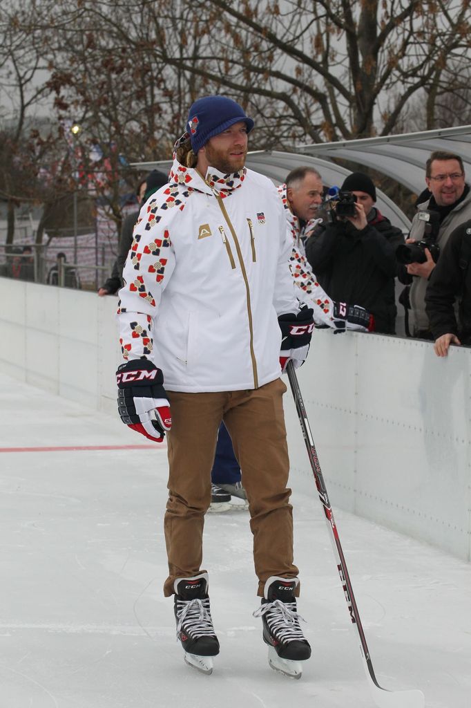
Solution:
{"label": "entire white rink board wall, visible on both sides of the skater", "polygon": [[[115,414],[115,297],[0,278],[0,302],[1,372]],[[470,364],[470,349],[315,332],[298,375],[332,506],[470,560]],[[315,496],[290,392],[285,409],[291,486]]]}

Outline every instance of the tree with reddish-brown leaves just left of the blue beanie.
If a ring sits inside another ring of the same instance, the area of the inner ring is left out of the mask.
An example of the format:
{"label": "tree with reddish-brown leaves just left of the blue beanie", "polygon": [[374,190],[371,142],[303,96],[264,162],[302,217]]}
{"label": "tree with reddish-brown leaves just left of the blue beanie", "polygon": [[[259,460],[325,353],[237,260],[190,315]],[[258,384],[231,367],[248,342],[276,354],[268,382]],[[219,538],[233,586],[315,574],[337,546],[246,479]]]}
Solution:
{"label": "tree with reddish-brown leaves just left of the blue beanie", "polygon": [[[129,162],[168,158],[190,83],[156,57],[152,28],[144,24],[137,32],[139,12],[129,2],[71,7],[58,0],[40,27],[47,33],[55,113],[62,125],[80,127],[76,149],[69,139],[71,161],[79,163],[81,186],[118,230],[123,195],[134,188]],[[136,30],[132,43],[124,40],[129,28]]]}

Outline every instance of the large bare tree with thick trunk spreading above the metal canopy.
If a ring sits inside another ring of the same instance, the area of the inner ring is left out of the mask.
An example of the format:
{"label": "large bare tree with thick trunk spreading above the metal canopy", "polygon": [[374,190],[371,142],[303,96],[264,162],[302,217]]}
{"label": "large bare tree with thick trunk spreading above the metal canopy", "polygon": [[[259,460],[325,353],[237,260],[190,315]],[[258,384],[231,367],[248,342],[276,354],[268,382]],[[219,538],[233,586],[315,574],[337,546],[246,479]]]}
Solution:
{"label": "large bare tree with thick trunk spreading above the metal canopy", "polygon": [[469,0],[141,0],[125,25],[106,0],[82,6],[117,47],[139,50],[144,31],[153,66],[250,106],[264,147],[389,135],[471,47]]}

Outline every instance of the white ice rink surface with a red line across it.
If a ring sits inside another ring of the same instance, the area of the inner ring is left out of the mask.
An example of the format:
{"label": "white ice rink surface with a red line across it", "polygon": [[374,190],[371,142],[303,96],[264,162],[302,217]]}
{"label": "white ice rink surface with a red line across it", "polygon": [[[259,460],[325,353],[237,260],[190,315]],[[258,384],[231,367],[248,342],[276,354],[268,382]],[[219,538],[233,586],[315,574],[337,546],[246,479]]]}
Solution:
{"label": "white ice rink surface with a red line across it", "polygon": [[[373,705],[314,481],[306,498],[291,480],[313,646],[303,677],[267,665],[241,510],[207,515],[221,654],[205,676],[183,662],[161,589],[165,447],[4,376],[0,423],[0,708]],[[427,708],[469,708],[471,565],[331,501],[379,683],[420,688]]]}

